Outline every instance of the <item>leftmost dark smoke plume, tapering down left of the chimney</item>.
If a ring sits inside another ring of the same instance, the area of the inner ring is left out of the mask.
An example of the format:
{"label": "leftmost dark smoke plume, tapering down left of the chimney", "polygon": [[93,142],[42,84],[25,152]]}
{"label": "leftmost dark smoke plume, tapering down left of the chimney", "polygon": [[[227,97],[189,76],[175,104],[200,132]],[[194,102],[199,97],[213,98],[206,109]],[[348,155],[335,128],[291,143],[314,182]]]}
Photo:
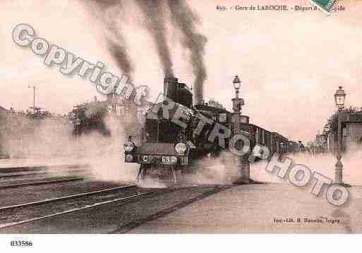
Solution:
{"label": "leftmost dark smoke plume, tapering down left of the chimney", "polygon": [[92,0],[92,3],[96,8],[95,13],[102,20],[104,27],[109,33],[106,38],[109,53],[113,56],[123,74],[132,79],[133,64],[127,51],[126,39],[121,28],[117,25],[117,21],[121,20],[122,17],[123,3],[119,0]]}

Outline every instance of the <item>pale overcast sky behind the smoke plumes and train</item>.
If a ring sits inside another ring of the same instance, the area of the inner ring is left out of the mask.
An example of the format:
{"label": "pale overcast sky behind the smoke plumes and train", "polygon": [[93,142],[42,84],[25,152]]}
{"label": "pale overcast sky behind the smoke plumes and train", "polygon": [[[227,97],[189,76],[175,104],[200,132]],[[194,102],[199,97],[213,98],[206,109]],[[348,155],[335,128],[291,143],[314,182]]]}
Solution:
{"label": "pale overcast sky behind the smoke plumes and train", "polygon": [[[205,99],[213,98],[231,109],[232,80],[240,75],[243,113],[251,123],[280,132],[294,140],[312,140],[334,111],[333,94],[343,86],[346,105],[362,106],[362,1],[339,1],[346,11],[327,17],[320,11],[217,11],[216,6],[263,4],[310,6],[295,1],[188,1],[200,16],[198,32],[207,37],[205,47]],[[102,61],[121,75],[107,50],[102,20],[115,19],[128,45],[135,68],[135,85],[148,85],[151,98],[162,92],[163,73],[155,44],[143,26],[136,4],[126,1],[115,16],[97,13],[88,1],[16,1],[0,4],[0,106],[27,109],[35,85],[37,106],[66,113],[73,105],[101,98],[89,80],[70,78],[59,67],[48,68],[44,58],[16,45],[11,32],[29,23],[37,36],[92,63]],[[165,13],[169,16],[169,13]],[[192,86],[189,52],[181,47],[177,30],[167,23],[174,73]],[[152,100],[151,99],[151,100]]]}

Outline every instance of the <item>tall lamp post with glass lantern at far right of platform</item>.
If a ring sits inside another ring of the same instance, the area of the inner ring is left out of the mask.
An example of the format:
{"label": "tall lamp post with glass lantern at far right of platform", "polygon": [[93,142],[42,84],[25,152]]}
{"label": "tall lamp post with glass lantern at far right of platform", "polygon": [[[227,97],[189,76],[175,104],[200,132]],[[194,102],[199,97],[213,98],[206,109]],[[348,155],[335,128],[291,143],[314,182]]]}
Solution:
{"label": "tall lamp post with glass lantern at far right of platform", "polygon": [[334,94],[334,101],[337,106],[337,121],[338,121],[338,129],[337,129],[337,163],[335,165],[335,183],[342,184],[343,178],[342,178],[342,170],[343,170],[343,164],[342,164],[342,122],[341,122],[341,114],[344,109],[344,101],[346,100],[346,93],[342,89],[342,86],[339,86],[339,89]]}

